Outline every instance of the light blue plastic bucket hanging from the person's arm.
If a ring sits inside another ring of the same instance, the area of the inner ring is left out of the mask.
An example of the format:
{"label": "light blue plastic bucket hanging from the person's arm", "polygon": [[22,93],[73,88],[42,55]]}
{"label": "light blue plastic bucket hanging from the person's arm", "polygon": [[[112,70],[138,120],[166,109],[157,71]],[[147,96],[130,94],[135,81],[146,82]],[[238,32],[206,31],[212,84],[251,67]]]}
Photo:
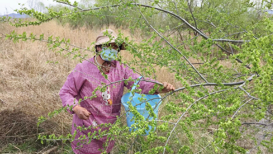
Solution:
{"label": "light blue plastic bucket hanging from the person's arm", "polygon": [[[141,78],[142,78],[142,76],[140,76],[138,79],[141,79]],[[132,87],[132,90],[135,90],[138,82],[139,82],[139,80],[134,84],[134,86]],[[130,97],[133,97],[132,101],[129,99]],[[156,104],[161,100],[160,99],[161,96],[159,94],[158,95],[145,95],[143,98],[146,98],[146,100],[149,100],[149,101],[140,104],[141,102],[138,100],[138,98],[141,98],[141,97],[142,96],[140,96],[140,94],[137,94],[137,93],[135,93],[133,96],[133,94],[131,92],[128,92],[121,97],[121,103],[124,106],[125,111],[127,111],[126,112],[126,121],[127,121],[127,126],[130,127],[129,131],[132,131],[131,125],[135,123],[135,120],[131,121],[134,114],[132,112],[130,112],[130,109],[127,104],[128,101],[129,102],[131,101],[132,105],[137,108],[137,111],[140,113],[140,115],[144,116],[144,118],[147,119],[149,116],[149,112],[145,109],[145,103],[150,103],[150,105],[154,109]],[[155,99],[153,99],[153,98],[155,98]],[[153,100],[150,100],[150,99],[153,99]],[[137,104],[139,104],[139,105],[137,105]],[[160,104],[161,104],[161,102],[154,109],[154,113],[156,114],[156,117],[158,116],[158,108],[159,108]],[[150,116],[148,119],[152,120],[153,117]],[[137,130],[137,128],[134,128],[134,129]],[[154,127],[154,130],[152,130],[152,126],[149,125],[149,130],[146,130],[146,134],[143,134],[143,135],[148,135],[150,131],[155,131],[155,130],[156,130],[156,127]]]}

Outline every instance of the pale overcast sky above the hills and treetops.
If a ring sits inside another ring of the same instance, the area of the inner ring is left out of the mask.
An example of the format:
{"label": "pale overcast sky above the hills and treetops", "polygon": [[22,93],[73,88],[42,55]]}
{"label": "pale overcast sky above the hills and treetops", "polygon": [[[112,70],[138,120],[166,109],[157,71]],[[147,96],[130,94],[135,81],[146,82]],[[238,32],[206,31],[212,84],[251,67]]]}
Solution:
{"label": "pale overcast sky above the hills and treetops", "polygon": [[[37,1],[37,0],[34,0],[34,1]],[[49,4],[56,4],[56,2],[53,2],[52,0],[40,0],[42,3],[44,3],[46,6],[49,5]],[[70,0],[72,3],[75,1],[75,0]],[[80,1],[80,0],[76,0],[76,1]],[[11,13],[16,13],[15,11],[13,11],[14,9],[20,9],[20,5],[18,5],[18,3],[21,3],[21,4],[25,4],[24,7],[26,8],[30,8],[29,5],[28,5],[28,0],[0,0],[0,14],[1,15],[6,15],[7,14],[7,11],[8,11],[8,14],[11,14]],[[7,8],[7,11],[6,11],[6,8]]]}

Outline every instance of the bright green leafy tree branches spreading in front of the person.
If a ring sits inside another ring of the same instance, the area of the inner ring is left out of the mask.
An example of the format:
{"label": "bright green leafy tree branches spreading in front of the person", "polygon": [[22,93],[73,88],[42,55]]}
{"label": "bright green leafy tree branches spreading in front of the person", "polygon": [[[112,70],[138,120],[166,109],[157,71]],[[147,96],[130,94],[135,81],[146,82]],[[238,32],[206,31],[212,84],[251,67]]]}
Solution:
{"label": "bright green leafy tree branches spreading in front of the person", "polygon": [[[161,68],[167,69],[173,73],[167,75],[174,75],[178,86],[175,92],[166,94],[161,100],[164,102],[161,109],[163,116],[156,117],[151,104],[145,102],[142,94],[138,100],[145,103],[152,120],[145,119],[128,101],[129,110],[134,114],[132,120],[135,120],[132,132],[121,122],[120,116],[114,124],[99,125],[111,126],[108,131],[99,129],[88,133],[88,136],[80,136],[77,138],[79,143],[90,143],[92,139],[107,136],[107,141],[117,139],[125,142],[117,145],[121,153],[129,147],[139,148],[135,142],[131,143],[132,138],[138,137],[135,141],[142,146],[139,150],[132,150],[135,153],[199,153],[202,150],[208,153],[246,153],[254,149],[240,145],[240,139],[247,137],[247,141],[257,143],[253,147],[263,146],[272,152],[273,138],[268,137],[272,136],[272,132],[259,127],[270,127],[273,120],[273,21],[272,15],[263,13],[272,8],[272,1],[156,0],[136,5],[135,1],[114,0],[96,1],[92,6],[62,2],[67,5],[48,7],[46,13],[26,8],[17,10],[36,21],[6,17],[0,20],[16,27],[40,25],[57,19],[72,26],[103,27],[114,24],[129,28],[132,33],[140,30],[145,38],[138,41],[129,41],[129,37],[124,37],[119,31],[116,43],[125,42],[127,52],[133,56],[130,62],[122,61],[122,57],[118,57],[119,61],[150,78],[157,78],[156,73]],[[112,39],[108,33],[105,35]],[[4,37],[14,43],[27,40],[47,42],[49,50],[55,54],[79,62],[86,60],[86,51],[94,52],[92,46],[78,47],[68,38],[58,36],[45,38],[44,34],[17,34],[13,31]],[[50,60],[47,63],[59,64]],[[106,74],[102,75],[108,78]],[[124,84],[131,81],[134,79],[129,78]],[[78,103],[95,98],[97,91],[105,91],[107,85],[102,85],[94,90],[93,96],[85,96]],[[149,94],[154,94],[158,86],[155,84]],[[162,88],[162,85],[159,86],[159,90]],[[142,90],[131,92],[141,93]],[[71,110],[73,106],[39,117],[37,125],[67,111],[67,108]],[[152,129],[157,127],[157,130],[147,137],[141,136],[149,125]],[[80,131],[91,128],[78,127]],[[258,132],[264,134],[262,141],[253,135]],[[58,140],[67,142],[74,140],[75,135],[76,132],[73,135],[39,134],[38,139],[42,144]],[[196,148],[199,143],[202,143],[201,149]]]}

